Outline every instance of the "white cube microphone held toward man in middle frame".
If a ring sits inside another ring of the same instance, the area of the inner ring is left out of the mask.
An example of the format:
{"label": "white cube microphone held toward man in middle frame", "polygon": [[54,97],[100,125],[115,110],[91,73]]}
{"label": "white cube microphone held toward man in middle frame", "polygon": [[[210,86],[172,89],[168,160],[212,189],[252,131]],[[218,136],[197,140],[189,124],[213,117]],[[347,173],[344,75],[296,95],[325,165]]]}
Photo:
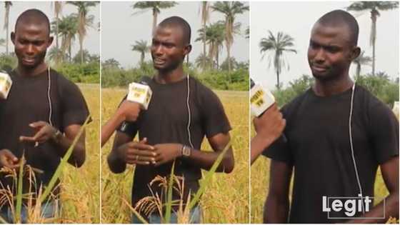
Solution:
{"label": "white cube microphone held toward man in middle frame", "polygon": [[140,105],[141,109],[147,110],[152,94],[153,91],[151,91],[149,85],[144,81],[141,81],[141,84],[132,82],[129,84],[128,96],[126,99],[136,102]]}

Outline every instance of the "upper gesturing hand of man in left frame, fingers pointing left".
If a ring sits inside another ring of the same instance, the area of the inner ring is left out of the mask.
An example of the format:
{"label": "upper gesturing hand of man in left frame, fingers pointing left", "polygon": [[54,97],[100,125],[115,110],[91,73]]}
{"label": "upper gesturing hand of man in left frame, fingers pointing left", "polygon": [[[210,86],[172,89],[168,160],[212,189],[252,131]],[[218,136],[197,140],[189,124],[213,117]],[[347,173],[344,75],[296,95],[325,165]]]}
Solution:
{"label": "upper gesturing hand of man in left frame, fingers pointing left", "polygon": [[44,143],[51,139],[57,131],[57,129],[44,121],[37,121],[29,124],[29,126],[36,130],[36,134],[34,136],[19,136],[19,141]]}

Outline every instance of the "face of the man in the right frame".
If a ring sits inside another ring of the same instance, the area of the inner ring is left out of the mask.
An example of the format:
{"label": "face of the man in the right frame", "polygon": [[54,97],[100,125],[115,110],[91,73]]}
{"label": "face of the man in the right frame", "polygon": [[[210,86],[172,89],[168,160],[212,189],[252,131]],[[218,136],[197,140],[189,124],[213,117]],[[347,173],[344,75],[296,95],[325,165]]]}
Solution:
{"label": "face of the man in the right frame", "polygon": [[316,79],[330,80],[344,74],[354,58],[347,26],[314,25],[308,50],[309,66]]}

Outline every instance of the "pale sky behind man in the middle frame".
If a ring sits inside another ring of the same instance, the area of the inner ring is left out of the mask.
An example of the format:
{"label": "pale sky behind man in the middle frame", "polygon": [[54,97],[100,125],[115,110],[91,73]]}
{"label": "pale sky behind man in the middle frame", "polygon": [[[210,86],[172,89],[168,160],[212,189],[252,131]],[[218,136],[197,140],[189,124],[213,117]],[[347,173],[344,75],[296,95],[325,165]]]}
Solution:
{"label": "pale sky behind man in the middle frame", "polygon": [[[103,1],[101,3],[101,60],[114,58],[125,68],[134,67],[140,60],[137,51],[131,51],[131,45],[135,41],[145,40],[150,44],[152,14],[144,11],[134,14],[139,9],[132,9],[132,1]],[[248,3],[246,3],[248,4]],[[201,29],[201,13],[199,1],[179,2],[177,6],[161,10],[158,23],[169,16],[181,16],[191,25],[191,44],[193,46],[189,61],[193,62],[203,51],[201,41],[195,42],[198,37],[197,30]],[[117,13],[116,13],[117,12]],[[134,15],[132,15],[134,14]],[[211,12],[210,22],[223,20],[218,12]],[[234,37],[234,45],[231,47],[231,56],[236,61],[249,60],[249,39],[244,38],[244,30],[249,27],[249,12],[237,16],[236,21],[241,22],[241,35]],[[150,54],[146,54],[146,60],[150,60]],[[226,47],[219,56],[220,64],[226,59]]]}

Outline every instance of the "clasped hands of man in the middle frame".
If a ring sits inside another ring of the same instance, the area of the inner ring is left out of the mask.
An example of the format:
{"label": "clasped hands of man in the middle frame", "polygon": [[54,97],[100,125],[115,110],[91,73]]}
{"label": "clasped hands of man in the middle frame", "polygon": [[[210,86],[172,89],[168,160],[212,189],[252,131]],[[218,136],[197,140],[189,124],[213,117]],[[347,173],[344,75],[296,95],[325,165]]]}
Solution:
{"label": "clasped hands of man in the middle frame", "polygon": [[119,159],[126,164],[159,166],[181,156],[182,144],[147,144],[147,139],[131,141],[116,149]]}

